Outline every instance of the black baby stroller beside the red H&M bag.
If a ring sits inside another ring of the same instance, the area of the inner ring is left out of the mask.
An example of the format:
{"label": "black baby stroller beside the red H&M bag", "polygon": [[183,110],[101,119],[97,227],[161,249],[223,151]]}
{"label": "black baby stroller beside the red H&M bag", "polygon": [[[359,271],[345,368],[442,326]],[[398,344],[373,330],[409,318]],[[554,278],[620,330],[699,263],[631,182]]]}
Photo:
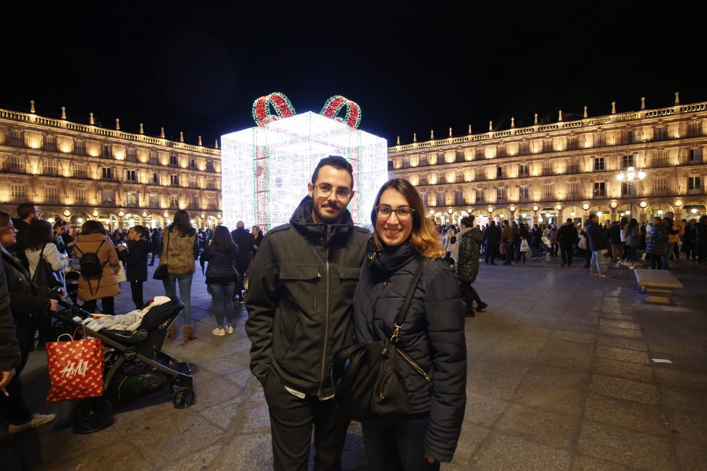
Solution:
{"label": "black baby stroller beside the red H&M bag", "polygon": [[[105,346],[103,395],[79,400],[74,406],[70,418],[74,433],[90,434],[110,427],[114,406],[144,398],[167,384],[173,390],[172,403],[176,409],[194,403],[189,364],[162,351],[167,328],[184,309],[179,299],[170,298],[164,304],[152,306],[134,332],[108,328],[93,330],[83,326],[82,321],[91,314],[81,306],[66,302],[59,304],[64,309],[55,314],[58,320],[54,331],[73,333],[77,327],[86,328],[86,335],[100,338]],[[143,309],[149,304],[145,304]]]}

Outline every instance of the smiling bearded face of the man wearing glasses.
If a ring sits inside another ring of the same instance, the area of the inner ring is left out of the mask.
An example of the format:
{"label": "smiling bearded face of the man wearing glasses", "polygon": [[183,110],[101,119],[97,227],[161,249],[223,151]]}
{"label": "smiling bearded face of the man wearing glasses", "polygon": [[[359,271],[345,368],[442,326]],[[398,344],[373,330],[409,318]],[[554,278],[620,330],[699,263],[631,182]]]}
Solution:
{"label": "smiling bearded face of the man wearing glasses", "polygon": [[[317,173],[317,181],[308,183],[309,196],[312,197],[312,220],[317,224],[336,224],[341,220],[346,206],[351,201],[353,192],[351,187],[354,181],[346,169],[337,169],[331,165],[325,165]],[[322,194],[327,193],[329,194]],[[345,193],[351,192],[351,196],[344,198],[337,196],[337,190]]]}

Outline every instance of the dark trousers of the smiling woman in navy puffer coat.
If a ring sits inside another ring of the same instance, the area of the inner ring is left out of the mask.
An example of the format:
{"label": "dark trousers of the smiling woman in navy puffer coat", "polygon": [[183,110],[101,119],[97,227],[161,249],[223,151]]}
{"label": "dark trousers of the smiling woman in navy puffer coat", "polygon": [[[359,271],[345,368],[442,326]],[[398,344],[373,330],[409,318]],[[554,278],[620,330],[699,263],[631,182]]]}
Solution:
{"label": "dark trousers of the smiling woman in navy puffer coat", "polygon": [[440,462],[425,458],[425,434],[430,420],[411,417],[395,425],[361,424],[370,471],[436,471]]}

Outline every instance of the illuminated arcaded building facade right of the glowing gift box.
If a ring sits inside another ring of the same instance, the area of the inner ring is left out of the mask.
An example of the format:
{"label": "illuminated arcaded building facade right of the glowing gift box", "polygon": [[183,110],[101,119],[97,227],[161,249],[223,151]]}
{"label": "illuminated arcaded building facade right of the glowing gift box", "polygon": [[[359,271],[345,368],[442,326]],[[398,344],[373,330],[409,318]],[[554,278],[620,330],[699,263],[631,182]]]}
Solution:
{"label": "illuminated arcaded building facade right of the glowing gift box", "polygon": [[[667,211],[675,219],[705,214],[707,102],[612,113],[388,148],[390,177],[409,179],[428,216],[458,224],[509,219],[531,224],[583,222],[622,216],[639,222]],[[632,184],[617,176],[628,167],[645,172]],[[631,194],[633,193],[633,194]],[[633,210],[629,208],[633,202]]]}

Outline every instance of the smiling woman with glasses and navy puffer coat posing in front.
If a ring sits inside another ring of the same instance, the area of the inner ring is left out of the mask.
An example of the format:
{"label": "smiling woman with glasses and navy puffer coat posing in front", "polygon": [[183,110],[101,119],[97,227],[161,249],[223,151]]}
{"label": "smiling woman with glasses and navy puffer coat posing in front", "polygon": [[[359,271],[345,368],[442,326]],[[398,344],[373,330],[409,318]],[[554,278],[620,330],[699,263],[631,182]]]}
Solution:
{"label": "smiling woman with glasses and navy puffer coat posing in front", "polygon": [[445,247],[409,181],[387,181],[371,213],[368,262],[354,294],[358,342],[390,338],[405,294],[424,257],[419,285],[399,330],[398,347],[421,369],[397,357],[409,415],[387,426],[362,423],[369,469],[438,470],[457,448],[466,405],[464,306]]}

